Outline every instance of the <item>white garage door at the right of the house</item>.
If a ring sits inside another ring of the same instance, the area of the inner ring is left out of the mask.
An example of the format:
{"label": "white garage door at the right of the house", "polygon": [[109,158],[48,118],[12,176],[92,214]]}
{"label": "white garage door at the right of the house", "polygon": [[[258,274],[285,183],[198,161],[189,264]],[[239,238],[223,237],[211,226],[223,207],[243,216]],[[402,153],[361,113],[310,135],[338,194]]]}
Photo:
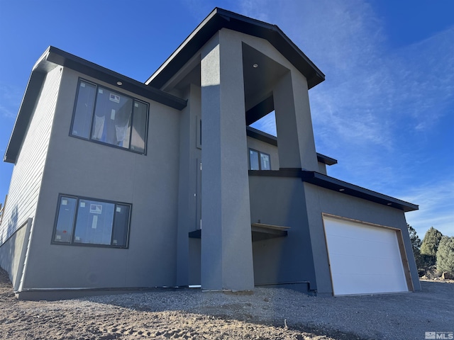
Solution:
{"label": "white garage door at the right of the house", "polygon": [[406,292],[394,229],[323,217],[334,295]]}

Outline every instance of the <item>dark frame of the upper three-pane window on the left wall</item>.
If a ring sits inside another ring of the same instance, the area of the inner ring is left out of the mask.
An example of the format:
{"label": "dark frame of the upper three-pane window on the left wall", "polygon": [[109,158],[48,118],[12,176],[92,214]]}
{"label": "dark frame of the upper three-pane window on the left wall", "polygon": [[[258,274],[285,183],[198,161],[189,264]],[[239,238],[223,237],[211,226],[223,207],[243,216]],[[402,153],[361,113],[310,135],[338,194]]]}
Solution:
{"label": "dark frame of the upper three-pane window on the left wall", "polygon": [[[74,135],[72,133],[72,129],[74,128],[74,120],[75,120],[75,116],[76,116],[76,109],[77,109],[77,100],[79,98],[79,91],[80,91],[80,83],[81,81],[87,83],[87,84],[91,84],[93,86],[95,86],[95,95],[94,95],[94,102],[93,102],[93,108],[92,108],[92,121],[90,122],[90,129],[89,129],[89,137],[86,138],[86,137],[83,137],[83,136],[79,136],[79,135]],[[133,128],[133,122],[134,122],[134,103],[135,101],[138,101],[139,103],[143,103],[147,106],[147,115],[146,115],[146,122],[145,122],[145,139],[144,139],[144,145],[143,145],[143,152],[141,151],[137,151],[137,150],[134,150],[134,149],[131,149],[131,140],[132,140],[132,133],[130,133],[130,136],[129,136],[129,146],[128,147],[121,147],[119,145],[114,145],[114,144],[111,144],[111,143],[108,143],[108,142],[103,142],[101,140],[95,140],[93,139],[92,135],[93,135],[93,130],[94,130],[94,120],[95,120],[95,113],[96,113],[96,103],[98,101],[98,91],[99,89],[105,89],[107,91],[112,91],[112,92],[115,92],[115,93],[118,93],[118,94],[121,94],[121,96],[125,96],[125,97],[128,97],[128,98],[131,98],[131,100],[133,101],[133,112],[131,113],[131,132],[132,132],[132,128]],[[118,91],[118,89],[112,89],[111,87],[109,86],[104,86],[104,85],[101,85],[101,84],[97,84],[95,83],[94,81],[89,81],[87,79],[84,79],[82,77],[79,77],[77,79],[77,91],[76,91],[76,96],[74,98],[74,104],[73,104],[73,108],[72,108],[72,118],[71,118],[71,126],[70,126],[70,137],[74,137],[74,138],[78,138],[79,140],[87,140],[89,142],[93,142],[93,143],[96,143],[96,144],[100,144],[100,145],[107,145],[109,147],[114,147],[115,149],[121,149],[121,150],[126,150],[126,151],[130,151],[130,152],[134,152],[136,154],[143,154],[143,155],[146,155],[147,154],[147,142],[148,142],[148,124],[150,122],[150,103],[146,102],[146,101],[142,101],[138,98],[135,98],[133,96],[129,96],[128,94],[125,94],[123,91]]]}

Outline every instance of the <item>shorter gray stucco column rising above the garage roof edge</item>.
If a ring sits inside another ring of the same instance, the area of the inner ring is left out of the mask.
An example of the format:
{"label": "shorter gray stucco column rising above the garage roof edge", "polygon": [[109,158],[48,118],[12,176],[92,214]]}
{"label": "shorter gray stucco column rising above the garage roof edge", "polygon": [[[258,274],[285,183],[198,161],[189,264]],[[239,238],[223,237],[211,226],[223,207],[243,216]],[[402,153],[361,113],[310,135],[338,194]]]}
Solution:
{"label": "shorter gray stucco column rising above the garage roof edge", "polygon": [[273,89],[280,168],[318,171],[306,79],[288,72]]}

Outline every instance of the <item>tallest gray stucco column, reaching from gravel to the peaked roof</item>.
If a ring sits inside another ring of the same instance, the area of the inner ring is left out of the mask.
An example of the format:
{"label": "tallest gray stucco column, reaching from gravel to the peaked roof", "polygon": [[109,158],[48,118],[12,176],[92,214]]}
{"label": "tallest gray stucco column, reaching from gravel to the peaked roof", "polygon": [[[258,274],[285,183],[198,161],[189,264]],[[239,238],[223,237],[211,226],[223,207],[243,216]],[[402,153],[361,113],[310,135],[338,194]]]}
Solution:
{"label": "tallest gray stucco column, reaching from gravel to the peaked roof", "polygon": [[221,30],[201,51],[201,286],[254,287],[241,41]]}

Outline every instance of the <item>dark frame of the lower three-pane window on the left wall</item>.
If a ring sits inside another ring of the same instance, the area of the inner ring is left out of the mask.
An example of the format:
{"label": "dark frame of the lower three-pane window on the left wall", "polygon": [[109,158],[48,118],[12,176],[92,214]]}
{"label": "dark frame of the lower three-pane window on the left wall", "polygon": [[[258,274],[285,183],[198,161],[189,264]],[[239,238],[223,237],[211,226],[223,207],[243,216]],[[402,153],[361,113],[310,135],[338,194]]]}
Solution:
{"label": "dark frame of the lower three-pane window on the left wall", "polygon": [[[74,217],[72,218],[72,232],[71,232],[70,242],[55,241],[55,235],[57,234],[58,217],[60,215],[60,208],[61,208],[61,202],[62,202],[63,197],[74,198],[76,200],[76,207],[74,209]],[[114,204],[114,212],[116,212],[117,205],[127,205],[129,207],[129,216],[127,219],[128,225],[127,225],[127,232],[126,232],[126,244],[124,246],[118,246],[118,245],[113,244],[112,237],[114,235],[114,226],[115,226],[115,219],[116,219],[115,213],[112,218],[111,244],[74,242],[74,236],[75,236],[76,227],[77,227],[77,213],[79,212],[80,200],[94,200],[94,201],[98,201],[100,203]],[[104,200],[104,199],[99,199],[99,198],[67,195],[65,193],[59,193],[58,200],[57,200],[57,211],[55,212],[55,221],[54,221],[54,225],[53,225],[53,229],[52,229],[52,239],[50,240],[50,244],[55,244],[55,245],[60,245],[60,246],[92,246],[92,247],[101,247],[101,248],[128,249],[129,248],[129,233],[131,232],[132,210],[133,210],[133,205],[131,203],[123,203],[123,202],[117,202],[114,200]]]}

